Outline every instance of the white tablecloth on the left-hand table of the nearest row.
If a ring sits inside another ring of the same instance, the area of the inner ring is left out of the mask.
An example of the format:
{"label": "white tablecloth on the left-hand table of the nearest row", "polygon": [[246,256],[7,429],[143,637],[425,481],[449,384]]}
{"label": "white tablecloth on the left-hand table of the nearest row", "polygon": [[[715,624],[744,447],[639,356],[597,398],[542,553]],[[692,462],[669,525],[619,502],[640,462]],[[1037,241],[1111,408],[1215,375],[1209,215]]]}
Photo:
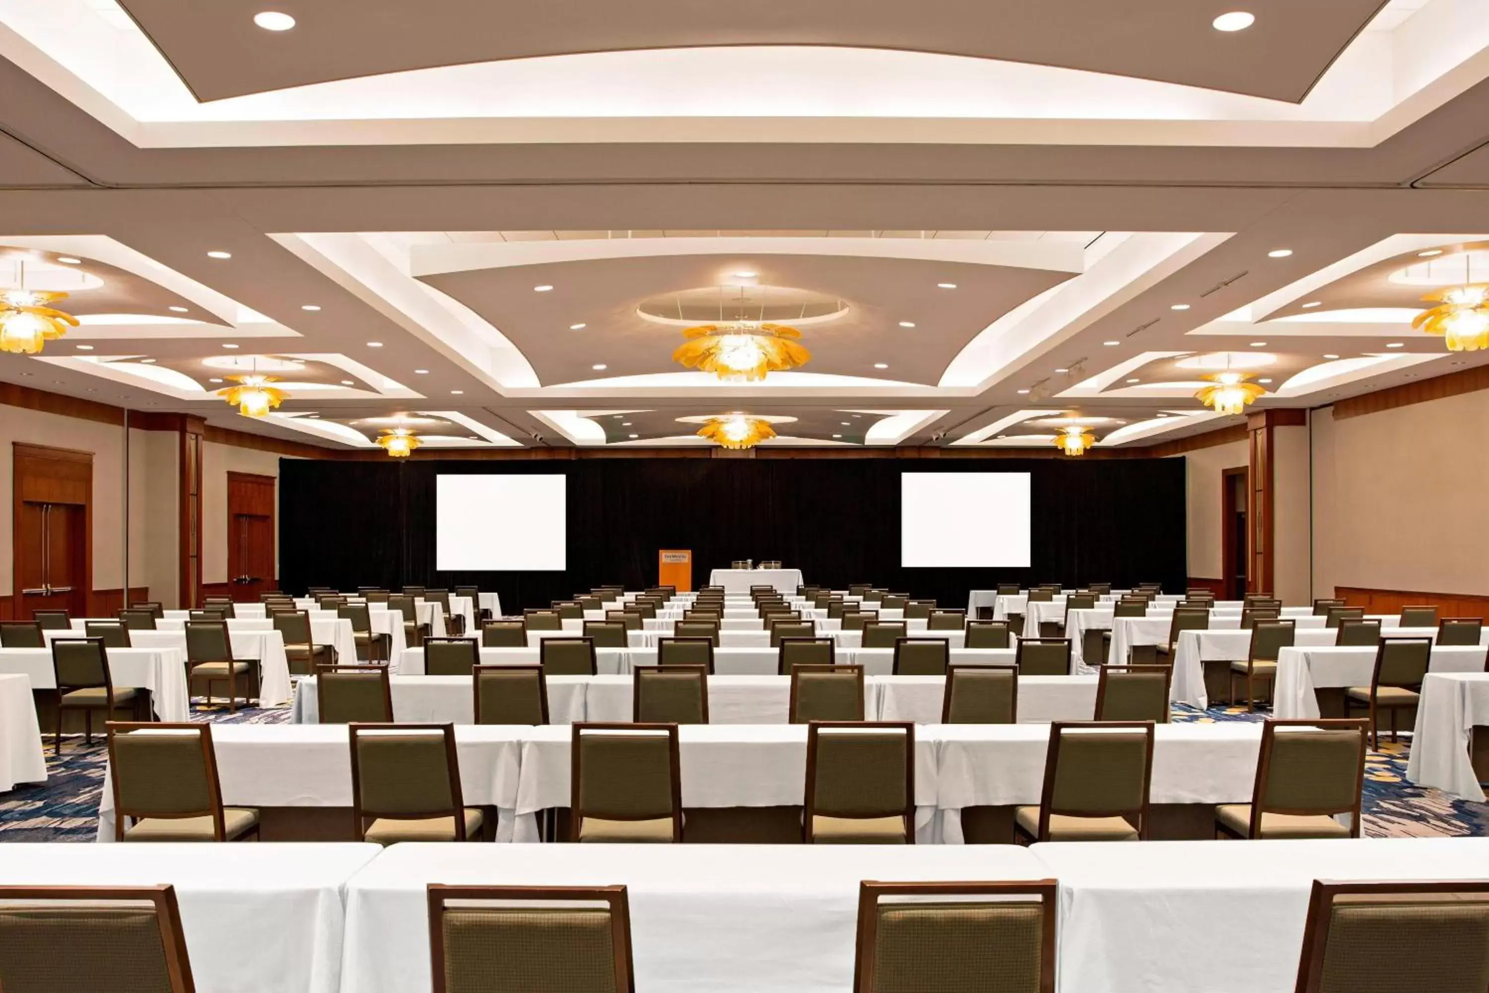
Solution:
{"label": "white tablecloth on the left-hand table of the nearest row", "polygon": [[200,993],[338,993],[345,884],[380,853],[326,843],[4,844],[0,886],[168,883]]}

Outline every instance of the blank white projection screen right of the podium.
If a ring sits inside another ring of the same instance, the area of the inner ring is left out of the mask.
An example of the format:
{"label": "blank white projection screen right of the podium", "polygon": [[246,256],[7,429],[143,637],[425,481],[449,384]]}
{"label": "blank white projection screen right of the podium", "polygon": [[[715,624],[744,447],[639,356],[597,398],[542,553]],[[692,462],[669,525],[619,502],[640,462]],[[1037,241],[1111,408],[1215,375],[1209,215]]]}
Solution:
{"label": "blank white projection screen right of the podium", "polygon": [[1027,472],[905,472],[899,564],[905,569],[1027,569]]}

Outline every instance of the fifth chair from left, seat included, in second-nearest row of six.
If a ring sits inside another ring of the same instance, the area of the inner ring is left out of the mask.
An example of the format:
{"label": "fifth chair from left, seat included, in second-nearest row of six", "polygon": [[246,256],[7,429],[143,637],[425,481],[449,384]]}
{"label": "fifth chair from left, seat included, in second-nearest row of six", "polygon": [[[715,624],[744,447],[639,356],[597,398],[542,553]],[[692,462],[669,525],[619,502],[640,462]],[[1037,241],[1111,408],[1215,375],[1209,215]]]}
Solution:
{"label": "fifth chair from left, seat included, in second-nearest row of six", "polygon": [[1151,721],[1056,721],[1039,805],[1014,811],[1014,834],[1030,843],[1147,840],[1151,780]]}

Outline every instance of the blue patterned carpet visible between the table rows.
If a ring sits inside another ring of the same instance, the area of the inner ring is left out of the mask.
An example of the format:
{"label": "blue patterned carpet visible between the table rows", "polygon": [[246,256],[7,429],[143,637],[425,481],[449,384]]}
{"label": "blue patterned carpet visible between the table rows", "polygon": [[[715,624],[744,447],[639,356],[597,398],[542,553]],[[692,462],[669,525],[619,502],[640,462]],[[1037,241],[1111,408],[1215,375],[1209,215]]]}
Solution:
{"label": "blue patterned carpet visible between the table rows", "polygon": [[[1242,709],[1194,710],[1176,706],[1175,721],[1260,721]],[[289,707],[226,710],[195,707],[194,721],[225,724],[284,724]],[[1409,744],[1382,741],[1365,764],[1365,835],[1407,838],[1432,835],[1489,835],[1489,804],[1473,804],[1406,782]],[[18,786],[0,794],[0,841],[92,841],[98,823],[98,794],[103,788],[104,747],[89,747],[82,737],[67,738],[63,755],[48,746],[48,779],[43,786]]]}

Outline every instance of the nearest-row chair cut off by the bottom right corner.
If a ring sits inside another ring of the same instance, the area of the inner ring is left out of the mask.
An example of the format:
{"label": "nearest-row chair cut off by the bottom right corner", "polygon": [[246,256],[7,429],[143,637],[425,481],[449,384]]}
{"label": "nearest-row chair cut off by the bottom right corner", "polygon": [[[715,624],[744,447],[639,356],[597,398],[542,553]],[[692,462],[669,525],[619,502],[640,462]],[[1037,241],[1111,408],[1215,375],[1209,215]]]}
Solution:
{"label": "nearest-row chair cut off by the bottom right corner", "polygon": [[1489,989],[1489,883],[1313,880],[1294,989]]}

